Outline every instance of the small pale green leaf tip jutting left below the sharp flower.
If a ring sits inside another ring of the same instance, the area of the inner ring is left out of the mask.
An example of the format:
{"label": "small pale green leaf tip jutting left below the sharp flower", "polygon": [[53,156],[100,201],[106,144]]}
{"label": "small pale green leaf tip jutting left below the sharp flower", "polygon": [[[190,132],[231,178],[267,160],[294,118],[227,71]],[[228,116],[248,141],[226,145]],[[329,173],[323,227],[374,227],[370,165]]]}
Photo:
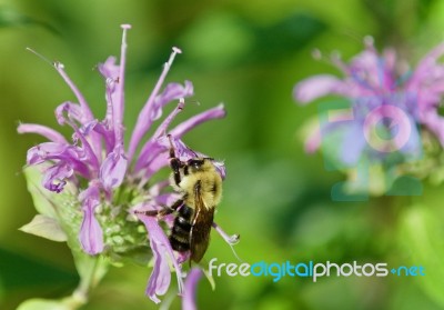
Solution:
{"label": "small pale green leaf tip jutting left below the sharp flower", "polygon": [[59,222],[48,216],[37,214],[31,222],[22,226],[19,230],[52,241],[64,242],[68,240],[67,233],[64,233]]}

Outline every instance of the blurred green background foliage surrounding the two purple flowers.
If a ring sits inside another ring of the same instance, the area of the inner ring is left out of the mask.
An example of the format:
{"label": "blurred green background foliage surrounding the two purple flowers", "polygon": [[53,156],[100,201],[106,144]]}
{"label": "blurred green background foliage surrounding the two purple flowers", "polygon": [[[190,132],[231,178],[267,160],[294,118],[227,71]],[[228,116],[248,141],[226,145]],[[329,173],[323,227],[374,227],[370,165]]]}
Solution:
{"label": "blurred green background foliage surrounding the two purple flowers", "polygon": [[[199,284],[201,309],[444,309],[444,208],[442,187],[424,183],[417,198],[333,202],[331,187],[343,180],[326,171],[322,154],[306,156],[301,126],[316,104],[297,107],[294,83],[335,72],[311,57],[314,48],[362,50],[394,46],[415,63],[443,38],[438,0],[226,0],[226,1],[0,1],[0,308],[28,298],[70,294],[78,278],[71,253],[18,231],[36,213],[21,169],[40,137],[19,137],[19,121],[54,128],[53,110],[73,100],[57,72],[31,47],[64,63],[99,118],[104,87],[94,66],[120,52],[121,23],[131,23],[125,123],[132,129],[171,47],[183,50],[168,81],[191,80],[193,100],[184,120],[224,102],[228,117],[193,130],[185,142],[224,159],[228,178],[216,221],[240,233],[239,256],[248,262],[387,262],[423,266],[426,276],[386,278],[215,279]],[[191,101],[190,101],[191,102]],[[62,132],[69,133],[67,128]],[[206,260],[235,262],[213,232]],[[143,296],[151,270],[113,268],[83,309],[157,309]],[[173,294],[174,287],[171,288]],[[172,298],[169,296],[165,299]],[[180,308],[174,299],[172,308]]]}

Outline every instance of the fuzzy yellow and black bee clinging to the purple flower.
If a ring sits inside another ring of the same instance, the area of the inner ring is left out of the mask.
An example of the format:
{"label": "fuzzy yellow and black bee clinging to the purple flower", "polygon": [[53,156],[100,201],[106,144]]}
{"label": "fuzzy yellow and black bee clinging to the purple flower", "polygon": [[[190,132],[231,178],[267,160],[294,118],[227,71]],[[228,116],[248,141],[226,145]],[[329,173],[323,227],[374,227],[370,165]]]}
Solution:
{"label": "fuzzy yellow and black bee clinging to the purple flower", "polygon": [[168,138],[171,146],[170,183],[181,198],[161,213],[176,211],[170,244],[178,252],[190,251],[190,263],[200,262],[209,247],[214,211],[222,198],[222,178],[212,158],[196,156],[181,161],[175,156],[171,136]]}

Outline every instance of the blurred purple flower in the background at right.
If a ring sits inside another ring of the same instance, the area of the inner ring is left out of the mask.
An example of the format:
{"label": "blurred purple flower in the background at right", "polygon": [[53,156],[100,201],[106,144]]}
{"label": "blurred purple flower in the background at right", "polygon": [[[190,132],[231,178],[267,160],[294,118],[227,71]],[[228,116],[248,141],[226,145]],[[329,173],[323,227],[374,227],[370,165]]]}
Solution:
{"label": "blurred purple flower in the background at right", "polygon": [[437,59],[443,53],[441,44],[415,70],[410,70],[397,61],[393,50],[380,54],[373,39],[366,38],[365,50],[349,63],[333,57],[331,62],[344,78],[320,74],[294,88],[294,98],[301,103],[327,94],[347,100],[340,104],[342,109],[331,104],[337,111],[326,112],[321,128],[307,138],[305,150],[313,152],[326,147],[321,143],[324,138],[339,149],[335,159],[339,166],[355,167],[362,159],[397,163],[421,156],[420,126],[433,132],[444,146],[444,119],[437,111],[444,92],[444,66]]}

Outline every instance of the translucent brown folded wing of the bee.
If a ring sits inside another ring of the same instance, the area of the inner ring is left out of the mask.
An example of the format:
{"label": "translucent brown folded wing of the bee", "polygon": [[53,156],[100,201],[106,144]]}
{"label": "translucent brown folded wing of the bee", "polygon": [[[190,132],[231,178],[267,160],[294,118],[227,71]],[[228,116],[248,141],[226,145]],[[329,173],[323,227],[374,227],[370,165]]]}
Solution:
{"label": "translucent brown folded wing of the bee", "polygon": [[194,186],[194,217],[190,232],[190,249],[191,260],[199,262],[209,246],[214,216],[214,206],[206,207],[204,204],[200,181]]}

